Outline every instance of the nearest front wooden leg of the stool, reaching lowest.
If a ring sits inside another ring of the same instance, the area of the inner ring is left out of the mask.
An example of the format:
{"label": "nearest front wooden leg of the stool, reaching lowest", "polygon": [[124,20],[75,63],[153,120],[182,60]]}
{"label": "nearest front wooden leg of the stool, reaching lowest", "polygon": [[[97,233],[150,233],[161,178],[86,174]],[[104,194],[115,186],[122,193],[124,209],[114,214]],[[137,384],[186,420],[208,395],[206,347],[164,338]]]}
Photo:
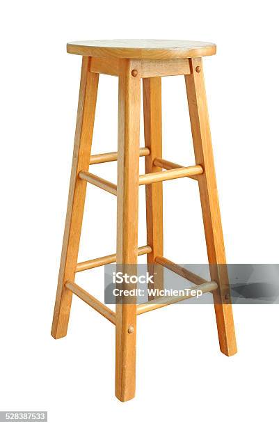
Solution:
{"label": "nearest front wooden leg of the stool, reaching lowest", "polygon": [[[119,77],[118,207],[116,262],[136,265],[138,252],[138,163],[141,79],[140,61],[123,60]],[[138,72],[139,74],[139,72]],[[136,304],[116,304],[115,395],[131,400],[136,384]]]}

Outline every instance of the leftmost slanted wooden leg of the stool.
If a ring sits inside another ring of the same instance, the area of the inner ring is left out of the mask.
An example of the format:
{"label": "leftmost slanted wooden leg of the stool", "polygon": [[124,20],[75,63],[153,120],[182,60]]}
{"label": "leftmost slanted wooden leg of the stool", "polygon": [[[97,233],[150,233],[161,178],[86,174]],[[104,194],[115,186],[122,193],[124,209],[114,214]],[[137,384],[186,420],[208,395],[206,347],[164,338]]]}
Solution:
{"label": "leftmost slanted wooden leg of the stool", "polygon": [[72,292],[67,290],[65,282],[74,281],[86,197],[86,182],[79,179],[78,175],[81,170],[88,171],[89,167],[99,79],[99,74],[90,72],[89,68],[90,58],[83,57],[69,198],[54,307],[54,319],[51,329],[51,336],[56,339],[62,338],[67,334]]}

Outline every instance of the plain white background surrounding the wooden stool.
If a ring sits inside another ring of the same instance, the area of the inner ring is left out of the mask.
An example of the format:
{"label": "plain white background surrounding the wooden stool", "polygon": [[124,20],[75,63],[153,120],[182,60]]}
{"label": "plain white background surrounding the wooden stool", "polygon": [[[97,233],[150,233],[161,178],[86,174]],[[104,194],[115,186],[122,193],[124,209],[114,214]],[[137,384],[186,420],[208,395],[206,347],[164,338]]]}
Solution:
{"label": "plain white background surrounding the wooden stool", "polygon": [[[50,336],[81,57],[70,40],[216,42],[205,79],[228,262],[278,262],[278,10],[260,1],[8,1],[1,8],[0,410],[50,425],[276,425],[278,306],[234,306],[239,353],[218,349],[213,306],[138,318],[136,398],[114,397],[114,329],[74,297]],[[164,157],[193,164],[183,77],[163,80]],[[101,76],[93,152],[116,150],[118,88]],[[141,132],[143,145],[143,132]],[[116,165],[95,173],[116,179]],[[141,159],[141,173],[143,173]],[[138,245],[145,244],[140,189]],[[79,260],[115,252],[116,200],[90,187]],[[165,255],[206,262],[196,182],[164,184]],[[141,258],[141,262],[145,259]],[[77,283],[103,296],[103,271]]]}

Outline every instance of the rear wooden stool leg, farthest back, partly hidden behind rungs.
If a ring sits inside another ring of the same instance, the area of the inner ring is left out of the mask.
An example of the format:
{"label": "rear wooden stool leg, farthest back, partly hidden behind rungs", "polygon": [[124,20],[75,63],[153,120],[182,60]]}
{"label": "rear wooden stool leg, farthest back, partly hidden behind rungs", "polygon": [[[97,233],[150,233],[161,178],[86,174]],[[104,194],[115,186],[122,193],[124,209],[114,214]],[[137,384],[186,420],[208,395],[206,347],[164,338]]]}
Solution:
{"label": "rear wooden stool leg, farthest back, partly hidden behind rungs", "polygon": [[[162,171],[153,164],[156,157],[162,157],[161,77],[143,79],[143,113],[145,146],[150,149],[145,157],[145,173]],[[163,290],[164,269],[155,264],[157,256],[163,255],[163,182],[146,185],[145,194],[147,244],[152,247],[148,272],[154,275],[154,288]]]}

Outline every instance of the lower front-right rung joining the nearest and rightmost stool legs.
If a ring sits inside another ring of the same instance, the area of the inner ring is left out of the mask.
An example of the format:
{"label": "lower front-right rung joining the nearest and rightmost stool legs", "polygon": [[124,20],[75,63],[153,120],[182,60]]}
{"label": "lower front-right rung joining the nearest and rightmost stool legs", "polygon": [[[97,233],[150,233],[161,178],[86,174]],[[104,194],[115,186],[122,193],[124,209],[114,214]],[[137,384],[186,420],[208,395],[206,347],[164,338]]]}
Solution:
{"label": "lower front-right rung joining the nearest and rightmost stool legs", "polygon": [[[191,287],[189,290],[201,290],[202,293],[207,293],[212,292],[212,290],[216,290],[217,287],[218,285],[215,283],[215,281],[210,281],[209,283],[200,284],[197,287]],[[191,294],[175,297],[157,297],[148,303],[142,303],[141,305],[138,305],[136,307],[136,315],[141,315],[142,313],[149,312],[150,310],[164,308],[164,306],[168,306],[185,299],[190,299],[191,297],[193,297]],[[154,301],[157,301],[157,303],[154,303]]]}

